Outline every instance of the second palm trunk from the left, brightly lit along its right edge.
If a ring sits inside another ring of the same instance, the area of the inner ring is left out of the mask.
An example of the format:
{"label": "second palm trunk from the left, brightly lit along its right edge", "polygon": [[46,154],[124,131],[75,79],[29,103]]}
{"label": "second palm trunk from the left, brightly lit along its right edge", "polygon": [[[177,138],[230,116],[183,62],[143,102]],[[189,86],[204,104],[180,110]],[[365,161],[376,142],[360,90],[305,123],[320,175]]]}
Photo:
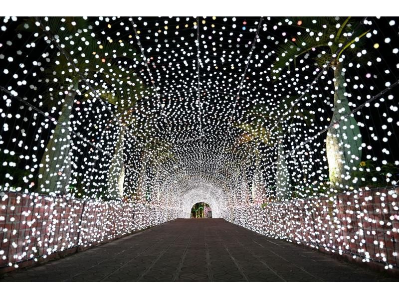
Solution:
{"label": "second palm trunk from the left, brightly lit along its right edge", "polygon": [[107,195],[109,199],[121,199],[123,197],[123,182],[125,180],[125,166],[123,163],[125,132],[124,128],[119,130],[114,156],[108,170]]}

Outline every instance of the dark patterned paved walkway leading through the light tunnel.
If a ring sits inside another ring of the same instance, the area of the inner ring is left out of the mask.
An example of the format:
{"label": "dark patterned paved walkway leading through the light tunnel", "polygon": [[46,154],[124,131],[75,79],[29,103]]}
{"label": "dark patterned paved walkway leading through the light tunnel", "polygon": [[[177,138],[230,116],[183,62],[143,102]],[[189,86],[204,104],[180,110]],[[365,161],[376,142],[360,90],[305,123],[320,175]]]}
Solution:
{"label": "dark patterned paved walkway leading through the light tunnel", "polygon": [[398,281],[223,219],[177,219],[0,281]]}

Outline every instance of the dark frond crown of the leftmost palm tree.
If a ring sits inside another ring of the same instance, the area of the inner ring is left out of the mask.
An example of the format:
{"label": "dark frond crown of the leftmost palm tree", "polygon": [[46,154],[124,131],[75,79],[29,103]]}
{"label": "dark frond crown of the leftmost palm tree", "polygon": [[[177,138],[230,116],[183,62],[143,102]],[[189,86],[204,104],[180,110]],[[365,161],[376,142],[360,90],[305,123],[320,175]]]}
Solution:
{"label": "dark frond crown of the leftmost palm tree", "polygon": [[[46,27],[49,30],[46,30]],[[54,39],[63,46],[62,50],[69,59],[63,54],[52,56],[51,59],[54,60],[52,62],[59,63],[50,63],[51,69],[48,70],[52,76],[61,79],[68,77],[80,80],[80,74],[74,67],[68,67],[70,72],[67,71],[68,68],[65,68],[70,61],[73,61],[78,69],[85,69],[85,72],[101,72],[104,75],[110,75],[106,70],[100,71],[100,69],[108,63],[116,66],[117,58],[136,56],[128,42],[102,40],[96,35],[93,36],[89,30],[92,29],[91,23],[83,17],[30,17],[25,19],[17,29],[35,33],[37,39],[42,37]],[[75,37],[75,34],[79,34],[78,37]],[[60,51],[59,48],[55,49],[55,52]],[[111,80],[105,76],[103,79],[108,82]]]}

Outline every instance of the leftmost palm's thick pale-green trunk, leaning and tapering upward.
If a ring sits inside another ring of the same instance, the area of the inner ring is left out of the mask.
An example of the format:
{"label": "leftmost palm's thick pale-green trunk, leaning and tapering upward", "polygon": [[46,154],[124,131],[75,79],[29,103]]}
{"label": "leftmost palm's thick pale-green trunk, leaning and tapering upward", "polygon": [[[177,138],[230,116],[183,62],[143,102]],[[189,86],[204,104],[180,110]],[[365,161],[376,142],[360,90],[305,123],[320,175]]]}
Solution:
{"label": "leftmost palm's thick pale-green trunk, leaning and tapering upward", "polygon": [[[71,158],[69,156],[71,137],[69,135],[69,118],[72,113],[76,88],[64,98],[61,115],[58,117],[54,133],[47,143],[41,157],[38,176],[39,191],[49,194],[67,192],[71,177]],[[62,125],[63,124],[63,125]]]}

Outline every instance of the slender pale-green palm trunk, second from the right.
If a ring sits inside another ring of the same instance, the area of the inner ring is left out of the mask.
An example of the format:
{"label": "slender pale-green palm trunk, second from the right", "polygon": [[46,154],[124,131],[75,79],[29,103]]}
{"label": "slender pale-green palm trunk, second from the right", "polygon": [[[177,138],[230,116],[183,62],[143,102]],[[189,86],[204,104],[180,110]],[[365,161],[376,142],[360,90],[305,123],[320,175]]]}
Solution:
{"label": "slender pale-green palm trunk, second from the right", "polygon": [[284,154],[284,140],[282,134],[277,141],[277,164],[276,164],[276,197],[279,200],[291,198],[290,175]]}

